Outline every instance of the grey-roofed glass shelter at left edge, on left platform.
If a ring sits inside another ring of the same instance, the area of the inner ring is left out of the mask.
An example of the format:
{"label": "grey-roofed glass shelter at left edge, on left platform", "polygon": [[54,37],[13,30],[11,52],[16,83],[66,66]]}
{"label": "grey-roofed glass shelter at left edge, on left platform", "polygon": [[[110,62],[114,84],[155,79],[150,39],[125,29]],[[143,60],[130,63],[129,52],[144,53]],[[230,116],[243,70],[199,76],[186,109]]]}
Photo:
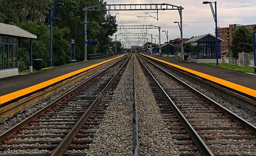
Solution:
{"label": "grey-roofed glass shelter at left edge, on left platform", "polygon": [[37,39],[37,36],[17,26],[0,23],[0,78],[19,74],[17,58],[20,38],[30,39],[29,72],[32,72],[32,39]]}

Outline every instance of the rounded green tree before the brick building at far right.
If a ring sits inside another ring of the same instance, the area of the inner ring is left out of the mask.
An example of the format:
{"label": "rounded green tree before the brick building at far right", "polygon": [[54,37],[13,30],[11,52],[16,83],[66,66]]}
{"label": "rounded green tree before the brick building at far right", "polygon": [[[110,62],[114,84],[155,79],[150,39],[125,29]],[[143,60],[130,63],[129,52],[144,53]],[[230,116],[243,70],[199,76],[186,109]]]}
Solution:
{"label": "rounded green tree before the brick building at far right", "polygon": [[233,33],[230,50],[234,58],[238,58],[239,52],[251,53],[253,51],[252,32],[245,26],[239,26]]}

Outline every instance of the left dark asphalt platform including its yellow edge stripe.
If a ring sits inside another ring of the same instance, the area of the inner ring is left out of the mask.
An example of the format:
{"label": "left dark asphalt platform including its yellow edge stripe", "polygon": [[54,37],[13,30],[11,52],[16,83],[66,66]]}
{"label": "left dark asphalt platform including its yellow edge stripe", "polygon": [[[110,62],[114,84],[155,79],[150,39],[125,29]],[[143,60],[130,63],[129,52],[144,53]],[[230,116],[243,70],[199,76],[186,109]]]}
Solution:
{"label": "left dark asphalt platform including its yellow edge stripe", "polygon": [[50,85],[65,80],[93,67],[112,61],[123,55],[104,57],[95,60],[69,64],[52,69],[46,69],[31,74],[21,74],[7,78],[0,78],[0,104],[19,98],[28,93],[43,89]]}

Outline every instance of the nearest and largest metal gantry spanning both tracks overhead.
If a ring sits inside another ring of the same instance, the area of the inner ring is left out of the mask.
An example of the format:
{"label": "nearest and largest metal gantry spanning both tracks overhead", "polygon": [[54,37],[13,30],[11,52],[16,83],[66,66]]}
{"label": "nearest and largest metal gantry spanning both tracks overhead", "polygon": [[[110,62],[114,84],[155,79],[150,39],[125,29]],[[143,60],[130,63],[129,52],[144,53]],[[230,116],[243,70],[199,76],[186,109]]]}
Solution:
{"label": "nearest and largest metal gantry spanning both tracks overhead", "polygon": [[[85,7],[83,11],[85,11],[85,61],[86,53],[87,53],[87,12],[88,11],[144,11],[144,10],[178,10],[180,14],[180,27],[182,29],[182,6],[176,6],[172,4],[98,4],[94,6]],[[127,35],[128,36],[128,35]],[[139,36],[139,35],[138,35]],[[159,36],[160,40],[160,36]],[[161,45],[161,40],[159,41]],[[183,47],[182,49],[182,56],[183,56]],[[159,50],[161,52],[161,50]],[[183,58],[182,58],[183,59]]]}

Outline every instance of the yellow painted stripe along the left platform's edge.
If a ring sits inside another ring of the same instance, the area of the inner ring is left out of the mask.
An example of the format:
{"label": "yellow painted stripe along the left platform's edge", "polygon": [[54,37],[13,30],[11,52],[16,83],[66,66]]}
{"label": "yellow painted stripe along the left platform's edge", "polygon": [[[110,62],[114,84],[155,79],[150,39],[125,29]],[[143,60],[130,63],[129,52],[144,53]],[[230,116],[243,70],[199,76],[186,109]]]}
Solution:
{"label": "yellow painted stripe along the left platform's edge", "polygon": [[21,97],[21,96],[23,96],[23,95],[26,95],[26,94],[28,94],[28,93],[32,93],[32,92],[37,91],[37,90],[39,90],[39,89],[42,89],[42,88],[44,88],[44,87],[48,87],[48,86],[50,86],[50,85],[52,85],[52,84],[54,84],[54,83],[56,83],[56,82],[59,82],[59,81],[61,81],[61,80],[64,80],[64,79],[69,78],[69,77],[71,77],[71,76],[74,76],[74,75],[76,75],[76,74],[79,74],[79,73],[81,73],[81,72],[85,72],[85,71],[87,71],[87,70],[89,70],[89,69],[92,69],[93,67],[97,67],[98,65],[102,65],[102,64],[107,63],[107,62],[109,62],[109,61],[112,61],[112,60],[114,60],[114,59],[116,59],[116,58],[119,58],[119,57],[121,57],[121,56],[124,56],[124,55],[120,55],[120,56],[118,56],[118,57],[111,58],[111,59],[109,59],[109,60],[106,60],[106,61],[103,61],[103,62],[94,64],[94,65],[91,65],[91,66],[89,66],[89,67],[85,67],[85,68],[76,70],[76,71],[74,71],[74,72],[71,72],[71,73],[68,73],[68,74],[64,74],[64,75],[62,75],[62,76],[53,78],[53,79],[51,79],[51,80],[48,80],[48,81],[45,81],[45,82],[41,82],[41,83],[39,83],[39,84],[37,84],[37,85],[34,85],[34,86],[31,86],[31,87],[28,87],[28,88],[25,88],[25,89],[22,89],[22,90],[19,90],[19,91],[15,91],[15,92],[13,92],[13,93],[9,93],[9,94],[0,96],[0,104],[4,104],[5,102],[9,102],[9,101],[11,101],[11,100],[13,100],[13,99],[15,99],[15,98],[19,98],[19,97]]}

